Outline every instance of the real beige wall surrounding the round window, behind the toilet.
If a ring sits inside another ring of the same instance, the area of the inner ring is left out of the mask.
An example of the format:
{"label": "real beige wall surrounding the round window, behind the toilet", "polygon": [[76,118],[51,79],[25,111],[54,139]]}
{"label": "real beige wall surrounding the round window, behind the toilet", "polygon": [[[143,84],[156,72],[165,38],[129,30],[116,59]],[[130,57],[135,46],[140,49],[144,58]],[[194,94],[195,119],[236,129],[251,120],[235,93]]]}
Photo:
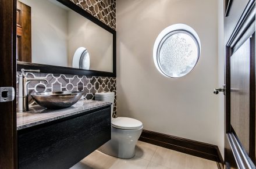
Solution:
{"label": "real beige wall surrounding the round window, behind the toilet", "polygon": [[[218,1],[118,0],[118,116],[137,118],[145,130],[219,145]],[[166,78],[152,49],[166,27],[184,23],[197,31],[201,56],[191,73]]]}

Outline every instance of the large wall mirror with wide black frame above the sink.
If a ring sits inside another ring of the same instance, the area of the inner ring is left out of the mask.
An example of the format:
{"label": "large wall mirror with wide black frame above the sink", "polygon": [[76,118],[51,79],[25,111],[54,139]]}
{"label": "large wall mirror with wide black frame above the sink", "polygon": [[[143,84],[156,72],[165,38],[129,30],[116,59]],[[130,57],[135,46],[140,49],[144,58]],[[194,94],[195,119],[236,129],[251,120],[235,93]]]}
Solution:
{"label": "large wall mirror with wide black frame above the sink", "polygon": [[17,1],[17,69],[116,76],[116,32],[69,0]]}

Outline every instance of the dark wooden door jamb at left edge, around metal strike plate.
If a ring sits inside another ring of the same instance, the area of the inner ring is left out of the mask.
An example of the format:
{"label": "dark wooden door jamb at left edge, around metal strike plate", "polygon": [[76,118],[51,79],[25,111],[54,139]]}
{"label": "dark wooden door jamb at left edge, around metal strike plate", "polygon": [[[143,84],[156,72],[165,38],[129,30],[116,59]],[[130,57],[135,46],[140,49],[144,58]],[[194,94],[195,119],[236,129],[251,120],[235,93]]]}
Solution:
{"label": "dark wooden door jamb at left edge, around metal strike plate", "polygon": [[[0,87],[16,88],[16,0],[0,5]],[[0,102],[0,168],[17,168],[16,99]]]}

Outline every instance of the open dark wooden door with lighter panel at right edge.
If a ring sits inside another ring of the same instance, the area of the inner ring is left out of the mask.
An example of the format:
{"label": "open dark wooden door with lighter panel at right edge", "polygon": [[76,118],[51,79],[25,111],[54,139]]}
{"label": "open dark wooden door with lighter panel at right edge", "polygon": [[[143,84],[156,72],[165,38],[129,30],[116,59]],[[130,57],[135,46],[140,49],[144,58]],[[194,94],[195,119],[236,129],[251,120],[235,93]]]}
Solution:
{"label": "open dark wooden door with lighter panel at right edge", "polygon": [[225,162],[255,168],[255,1],[225,3]]}

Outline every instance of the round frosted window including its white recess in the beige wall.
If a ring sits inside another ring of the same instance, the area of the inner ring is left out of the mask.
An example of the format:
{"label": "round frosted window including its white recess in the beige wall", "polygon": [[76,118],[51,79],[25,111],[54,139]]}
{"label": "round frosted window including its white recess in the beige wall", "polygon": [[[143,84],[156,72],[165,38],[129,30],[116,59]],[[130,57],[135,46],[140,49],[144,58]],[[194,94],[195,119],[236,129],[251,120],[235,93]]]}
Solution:
{"label": "round frosted window including its white recess in the beige wall", "polygon": [[166,77],[183,77],[193,70],[200,52],[200,39],[193,28],[173,24],[165,28],[155,41],[154,63]]}

